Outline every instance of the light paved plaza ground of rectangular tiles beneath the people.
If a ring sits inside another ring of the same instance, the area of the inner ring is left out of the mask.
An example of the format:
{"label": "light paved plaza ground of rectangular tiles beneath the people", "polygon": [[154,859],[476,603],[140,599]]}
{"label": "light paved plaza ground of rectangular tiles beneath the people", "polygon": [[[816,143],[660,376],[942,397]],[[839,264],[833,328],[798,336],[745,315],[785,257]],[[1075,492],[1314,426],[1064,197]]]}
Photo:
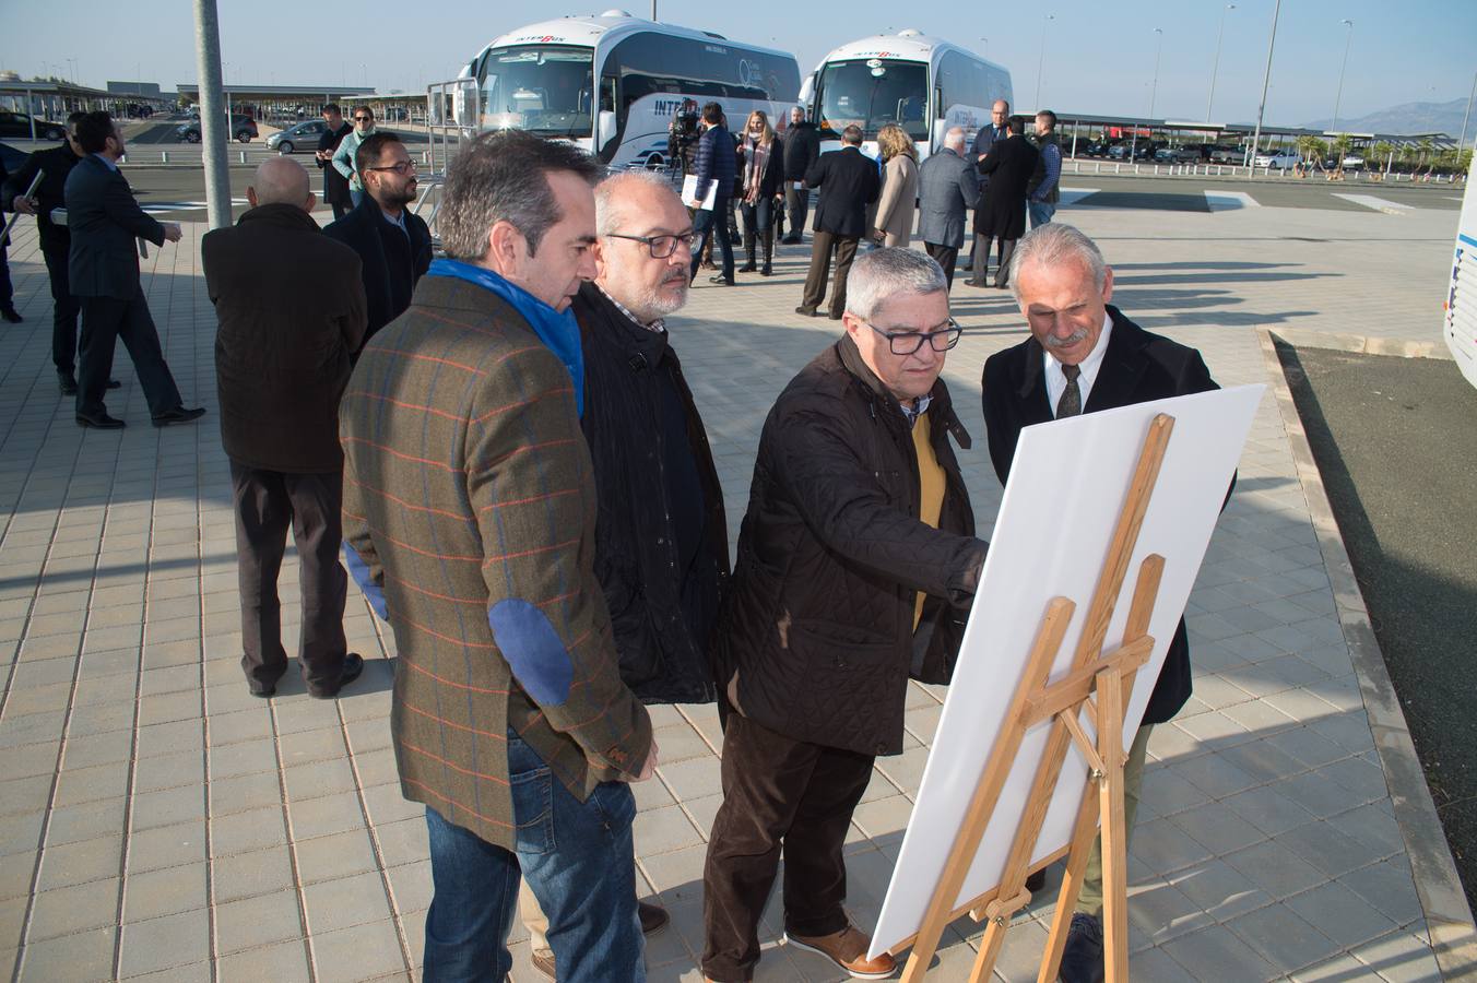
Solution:
{"label": "light paved plaza ground of rectangular tiles beneath the people", "polygon": [[[1198,347],[1221,385],[1276,382],[1263,328],[1298,341],[1439,338],[1449,204],[1087,204],[1059,218],[1102,245],[1117,272],[1112,303]],[[253,698],[238,664],[204,230],[186,224],[185,241],[151,249],[145,266],[185,401],[211,410],[167,430],[148,425],[121,350],[124,385],[109,410],[128,428],[74,425],[50,365],[50,297],[30,221],[10,246],[27,320],[0,331],[0,967],[27,983],[415,979],[430,869],[421,807],[396,781],[385,626],[352,590],[350,645],[368,664],[334,703],[310,700],[297,673],[276,698]],[[806,260],[808,248],[786,246],[774,277],[743,276],[734,289],[707,286],[705,273],[671,322],[733,545],[765,413],[836,334],[835,322],[793,313]],[[945,378],[975,438],[960,461],[988,534],[1000,487],[979,375],[1024,326],[1007,292],[962,279],[954,313],[969,334]],[[1128,871],[1136,982],[1434,980],[1433,933],[1447,974],[1473,951],[1289,406],[1269,388],[1190,596],[1195,697],[1154,732]],[[297,632],[294,564],[289,552],[285,638]],[[848,906],[863,928],[886,891],[944,695],[913,685],[907,750],[877,760],[855,813]],[[712,707],[657,707],[653,717],[662,765],[635,785],[638,883],[672,925],[650,939],[647,965],[653,980],[699,980],[722,737]],[[1000,979],[1035,979],[1055,881],[1009,934]],[[780,928],[771,905],[758,979],[840,979],[780,945]],[[956,922],[931,979],[966,979],[979,934]],[[521,927],[514,939],[514,979],[541,979]]]}

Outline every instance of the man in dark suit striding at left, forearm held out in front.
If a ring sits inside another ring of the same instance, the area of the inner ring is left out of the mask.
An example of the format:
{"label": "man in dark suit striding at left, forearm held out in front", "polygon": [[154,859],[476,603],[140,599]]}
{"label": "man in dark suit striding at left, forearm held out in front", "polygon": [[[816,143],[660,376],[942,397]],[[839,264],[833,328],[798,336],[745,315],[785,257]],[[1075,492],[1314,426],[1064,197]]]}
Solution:
{"label": "man in dark suit striding at left, forearm held out in front", "polygon": [[83,306],[77,425],[100,430],[124,425],[108,415],[102,400],[120,338],[139,373],[154,425],[198,419],[205,410],[186,409],[180,403],[139,280],[136,241],[146,239],[157,246],[165,239],[179,242],[180,227],[160,224],[133,199],[133,189],[118,173],[126,146],[123,130],[112,117],[106,112],[84,115],[77,121],[77,142],[87,156],[66,176],[65,186],[66,224],[72,238],[66,273],[72,295]]}

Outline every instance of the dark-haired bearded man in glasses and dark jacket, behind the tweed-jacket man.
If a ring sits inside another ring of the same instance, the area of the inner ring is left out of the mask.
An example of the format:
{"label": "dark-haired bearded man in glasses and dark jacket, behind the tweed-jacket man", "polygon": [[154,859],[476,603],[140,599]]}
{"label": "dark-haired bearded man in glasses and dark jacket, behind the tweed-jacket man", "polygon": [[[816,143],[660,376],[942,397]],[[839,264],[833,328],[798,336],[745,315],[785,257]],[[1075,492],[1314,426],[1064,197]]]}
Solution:
{"label": "dark-haired bearded man in glasses and dark jacket, behind the tweed-jacket man", "polygon": [[375,133],[354,151],[354,168],[365,183],[359,205],[323,229],[363,264],[369,329],[365,341],[411,306],[417,280],[431,266],[431,230],[406,205],[415,201],[415,161],[400,137]]}

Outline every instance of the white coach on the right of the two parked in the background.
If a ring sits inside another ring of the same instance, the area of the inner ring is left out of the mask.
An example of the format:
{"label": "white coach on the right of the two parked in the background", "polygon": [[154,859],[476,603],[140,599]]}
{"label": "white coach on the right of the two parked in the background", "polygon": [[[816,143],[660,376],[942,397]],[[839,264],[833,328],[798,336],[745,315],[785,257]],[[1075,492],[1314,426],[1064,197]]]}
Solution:
{"label": "white coach on the right of the two parked in the background", "polygon": [[842,44],[815,66],[801,102],[826,142],[858,125],[874,155],[877,130],[897,123],[919,149],[919,159],[944,145],[951,127],[966,139],[990,123],[995,99],[1010,100],[1010,72],[973,52],[916,30],[877,34]]}

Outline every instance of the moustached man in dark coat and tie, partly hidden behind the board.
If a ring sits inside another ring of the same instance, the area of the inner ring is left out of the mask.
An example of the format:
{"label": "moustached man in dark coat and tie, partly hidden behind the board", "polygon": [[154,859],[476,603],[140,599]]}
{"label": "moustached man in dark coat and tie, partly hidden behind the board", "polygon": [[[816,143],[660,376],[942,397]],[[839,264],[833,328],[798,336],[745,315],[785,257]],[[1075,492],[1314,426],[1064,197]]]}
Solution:
{"label": "moustached man in dark coat and tie, partly hidden behind the board", "polygon": [[[1050,419],[1220,388],[1199,353],[1152,335],[1111,307],[1112,270],[1072,226],[1028,232],[1015,251],[1012,282],[1031,338],[985,362],[990,459],[1004,484],[1021,430]],[[1189,642],[1180,620],[1124,766],[1124,816],[1133,829],[1143,760],[1155,723],[1190,695]],[[1093,847],[1062,956],[1063,983],[1100,982],[1102,853]]]}

